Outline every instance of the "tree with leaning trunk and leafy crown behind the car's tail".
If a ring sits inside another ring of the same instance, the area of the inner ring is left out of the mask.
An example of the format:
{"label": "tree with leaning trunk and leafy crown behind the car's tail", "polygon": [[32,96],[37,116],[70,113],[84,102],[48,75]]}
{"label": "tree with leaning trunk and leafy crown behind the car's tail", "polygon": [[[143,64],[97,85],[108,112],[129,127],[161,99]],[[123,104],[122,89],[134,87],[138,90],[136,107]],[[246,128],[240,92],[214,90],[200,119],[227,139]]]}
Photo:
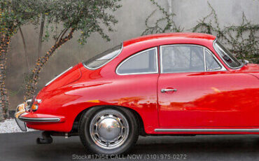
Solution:
{"label": "tree with leaning trunk and leafy crown behind the car's tail", "polygon": [[[118,22],[112,13],[120,8],[119,1],[42,0],[45,5],[44,14],[45,22],[47,23],[45,26],[45,39],[48,39],[52,34],[55,43],[43,57],[38,58],[26,85],[25,99],[30,99],[35,94],[39,73],[42,71],[43,66],[58,48],[73,38],[74,31],[80,31],[80,38],[78,38],[80,44],[87,43],[87,38],[94,32],[99,33],[106,41],[110,40],[105,31],[113,31],[112,26]],[[29,6],[42,8],[36,1],[31,1]],[[55,24],[62,24],[63,29],[55,32],[55,27],[53,26]],[[104,27],[106,30],[103,29]]]}

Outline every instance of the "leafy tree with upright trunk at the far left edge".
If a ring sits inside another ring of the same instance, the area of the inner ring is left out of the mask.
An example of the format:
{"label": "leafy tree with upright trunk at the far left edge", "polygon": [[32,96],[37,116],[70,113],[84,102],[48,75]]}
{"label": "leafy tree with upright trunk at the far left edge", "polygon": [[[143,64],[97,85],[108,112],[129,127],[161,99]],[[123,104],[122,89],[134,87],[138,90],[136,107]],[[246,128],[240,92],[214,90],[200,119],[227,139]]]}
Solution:
{"label": "leafy tree with upright trunk at the far left edge", "polygon": [[27,0],[0,1],[0,120],[8,118],[8,95],[6,91],[6,59],[11,37],[18,29],[36,20],[38,10],[26,6]]}

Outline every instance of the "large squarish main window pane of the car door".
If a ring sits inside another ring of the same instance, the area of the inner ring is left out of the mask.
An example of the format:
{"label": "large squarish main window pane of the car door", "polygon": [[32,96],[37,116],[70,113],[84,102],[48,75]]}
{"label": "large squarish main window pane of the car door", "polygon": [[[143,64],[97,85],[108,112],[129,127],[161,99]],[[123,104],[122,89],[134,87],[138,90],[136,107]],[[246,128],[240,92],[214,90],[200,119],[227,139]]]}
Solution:
{"label": "large squarish main window pane of the car door", "polygon": [[204,51],[193,45],[162,46],[162,73],[205,71]]}

